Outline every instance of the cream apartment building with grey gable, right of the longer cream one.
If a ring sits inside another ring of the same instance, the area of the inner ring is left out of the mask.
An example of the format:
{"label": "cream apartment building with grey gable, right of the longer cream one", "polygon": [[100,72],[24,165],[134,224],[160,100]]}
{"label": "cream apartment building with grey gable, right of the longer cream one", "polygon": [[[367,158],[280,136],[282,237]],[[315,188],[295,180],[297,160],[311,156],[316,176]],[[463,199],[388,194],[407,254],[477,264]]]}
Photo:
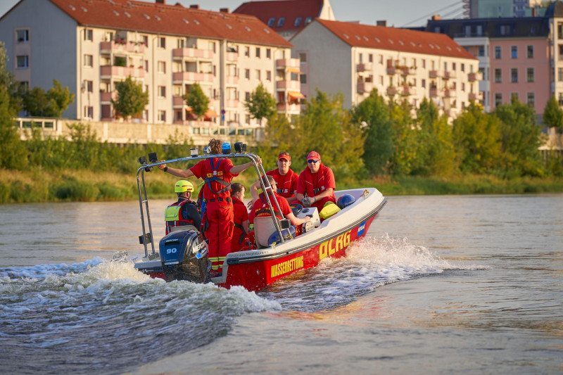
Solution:
{"label": "cream apartment building with grey gable, right of the longer cream one", "polygon": [[419,106],[431,98],[455,117],[479,100],[479,60],[443,34],[315,19],[290,41],[301,93],[315,89],[357,106],[372,89]]}

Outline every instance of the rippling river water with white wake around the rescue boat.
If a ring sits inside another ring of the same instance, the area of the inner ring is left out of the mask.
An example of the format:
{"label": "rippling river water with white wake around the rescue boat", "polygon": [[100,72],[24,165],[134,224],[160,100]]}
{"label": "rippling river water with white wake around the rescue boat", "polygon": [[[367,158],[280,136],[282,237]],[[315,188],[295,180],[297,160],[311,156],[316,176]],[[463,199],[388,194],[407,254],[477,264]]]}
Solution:
{"label": "rippling river water with white wake around the rescue boat", "polygon": [[0,205],[0,373],[563,374],[561,193],[391,196],[260,293],[135,271],[138,213]]}

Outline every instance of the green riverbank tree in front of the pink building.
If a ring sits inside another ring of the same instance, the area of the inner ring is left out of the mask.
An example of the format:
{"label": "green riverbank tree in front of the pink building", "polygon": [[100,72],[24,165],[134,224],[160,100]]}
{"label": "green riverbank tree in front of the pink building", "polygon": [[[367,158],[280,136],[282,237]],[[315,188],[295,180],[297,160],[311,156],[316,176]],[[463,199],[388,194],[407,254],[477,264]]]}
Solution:
{"label": "green riverbank tree in front of the pink building", "polygon": [[497,106],[494,115],[500,120],[505,169],[518,175],[541,174],[541,129],[533,108],[513,97],[510,105]]}

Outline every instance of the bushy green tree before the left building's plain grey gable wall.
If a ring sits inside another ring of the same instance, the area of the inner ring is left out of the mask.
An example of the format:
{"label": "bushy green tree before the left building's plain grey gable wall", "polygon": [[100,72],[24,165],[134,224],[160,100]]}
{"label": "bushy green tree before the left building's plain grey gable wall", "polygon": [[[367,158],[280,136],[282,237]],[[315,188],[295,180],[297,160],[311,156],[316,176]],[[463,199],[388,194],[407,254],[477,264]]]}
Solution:
{"label": "bushy green tree before the left building's plain grey gable wall", "polygon": [[74,102],[74,94],[68,87],[53,80],[53,87],[45,92],[41,87],[26,90],[23,95],[23,109],[31,116],[61,117],[63,112]]}

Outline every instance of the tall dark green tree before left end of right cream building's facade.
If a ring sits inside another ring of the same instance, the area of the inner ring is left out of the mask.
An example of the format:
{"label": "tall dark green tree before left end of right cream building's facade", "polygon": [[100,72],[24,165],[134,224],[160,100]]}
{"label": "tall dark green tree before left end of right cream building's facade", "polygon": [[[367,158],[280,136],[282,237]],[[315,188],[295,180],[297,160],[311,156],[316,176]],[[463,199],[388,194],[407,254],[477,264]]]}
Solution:
{"label": "tall dark green tree before left end of right cream building's facade", "polygon": [[350,110],[352,122],[365,126],[363,160],[369,174],[386,172],[395,151],[393,122],[389,106],[383,96],[374,89],[362,103]]}

